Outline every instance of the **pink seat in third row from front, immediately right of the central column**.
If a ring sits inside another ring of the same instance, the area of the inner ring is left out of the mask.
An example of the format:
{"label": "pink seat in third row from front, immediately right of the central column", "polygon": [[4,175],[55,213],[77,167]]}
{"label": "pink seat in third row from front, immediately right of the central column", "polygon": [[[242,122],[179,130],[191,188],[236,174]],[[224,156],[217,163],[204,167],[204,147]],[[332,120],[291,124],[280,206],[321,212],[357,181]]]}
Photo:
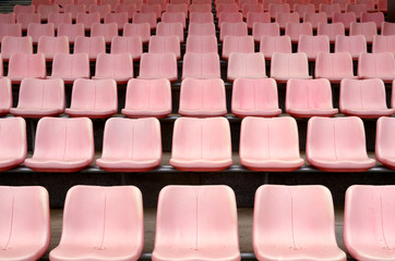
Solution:
{"label": "pink seat in third row from front, immediately right of the central column", "polygon": [[234,82],[231,112],[239,116],[277,116],[277,84],[273,78],[237,78]]}

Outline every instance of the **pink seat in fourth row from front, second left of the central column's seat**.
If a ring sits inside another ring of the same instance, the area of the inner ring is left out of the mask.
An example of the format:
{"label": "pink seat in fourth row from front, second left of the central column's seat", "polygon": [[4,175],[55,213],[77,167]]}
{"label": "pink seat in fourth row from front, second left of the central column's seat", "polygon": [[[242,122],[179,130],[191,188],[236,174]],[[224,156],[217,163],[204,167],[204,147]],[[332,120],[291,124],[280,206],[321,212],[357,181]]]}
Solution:
{"label": "pink seat in fourth row from front, second left of the central column's seat", "polygon": [[125,84],[133,78],[133,58],[130,53],[99,53],[96,60],[95,79],[111,78]]}

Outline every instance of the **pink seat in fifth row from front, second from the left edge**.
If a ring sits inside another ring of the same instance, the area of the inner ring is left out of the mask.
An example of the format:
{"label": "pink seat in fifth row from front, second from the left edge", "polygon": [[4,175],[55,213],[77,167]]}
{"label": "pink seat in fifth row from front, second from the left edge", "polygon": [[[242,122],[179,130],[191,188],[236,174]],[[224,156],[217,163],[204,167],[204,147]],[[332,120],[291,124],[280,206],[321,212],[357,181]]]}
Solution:
{"label": "pink seat in fifth row from front, second from the left edge", "polygon": [[37,53],[44,53],[45,59],[51,61],[55,53],[70,53],[69,38],[67,36],[41,36],[38,39]]}

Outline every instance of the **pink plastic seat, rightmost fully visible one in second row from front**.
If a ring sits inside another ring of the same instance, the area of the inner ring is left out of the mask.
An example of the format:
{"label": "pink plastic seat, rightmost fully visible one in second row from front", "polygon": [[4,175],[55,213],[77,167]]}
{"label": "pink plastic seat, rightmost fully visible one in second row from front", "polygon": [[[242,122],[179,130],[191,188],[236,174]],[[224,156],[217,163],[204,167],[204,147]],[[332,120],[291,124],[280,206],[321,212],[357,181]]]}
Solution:
{"label": "pink plastic seat, rightmost fully visible one in second row from front", "polygon": [[311,117],[306,159],[326,172],[366,172],[375,165],[368,158],[363,122],[356,116]]}

